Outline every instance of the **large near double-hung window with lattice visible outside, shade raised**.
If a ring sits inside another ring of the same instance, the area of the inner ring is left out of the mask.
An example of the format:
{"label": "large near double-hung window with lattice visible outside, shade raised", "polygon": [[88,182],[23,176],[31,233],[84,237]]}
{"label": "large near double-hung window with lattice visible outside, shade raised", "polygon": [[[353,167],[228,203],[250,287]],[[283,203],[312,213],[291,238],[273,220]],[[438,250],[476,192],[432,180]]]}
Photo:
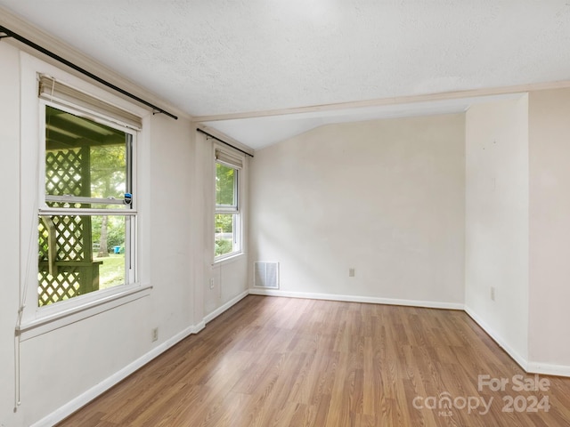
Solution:
{"label": "large near double-hung window with lattice visible outside, shade raised", "polygon": [[134,169],[141,119],[39,78],[37,305],[135,281]]}

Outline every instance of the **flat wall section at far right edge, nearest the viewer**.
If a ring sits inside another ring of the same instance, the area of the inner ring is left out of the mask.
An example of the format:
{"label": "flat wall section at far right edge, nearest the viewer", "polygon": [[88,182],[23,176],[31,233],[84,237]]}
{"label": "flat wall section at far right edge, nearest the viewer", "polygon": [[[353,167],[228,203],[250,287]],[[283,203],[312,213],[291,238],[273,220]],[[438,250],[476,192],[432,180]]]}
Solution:
{"label": "flat wall section at far right edge, nearest the viewer", "polygon": [[533,370],[570,376],[570,89],[529,95]]}

